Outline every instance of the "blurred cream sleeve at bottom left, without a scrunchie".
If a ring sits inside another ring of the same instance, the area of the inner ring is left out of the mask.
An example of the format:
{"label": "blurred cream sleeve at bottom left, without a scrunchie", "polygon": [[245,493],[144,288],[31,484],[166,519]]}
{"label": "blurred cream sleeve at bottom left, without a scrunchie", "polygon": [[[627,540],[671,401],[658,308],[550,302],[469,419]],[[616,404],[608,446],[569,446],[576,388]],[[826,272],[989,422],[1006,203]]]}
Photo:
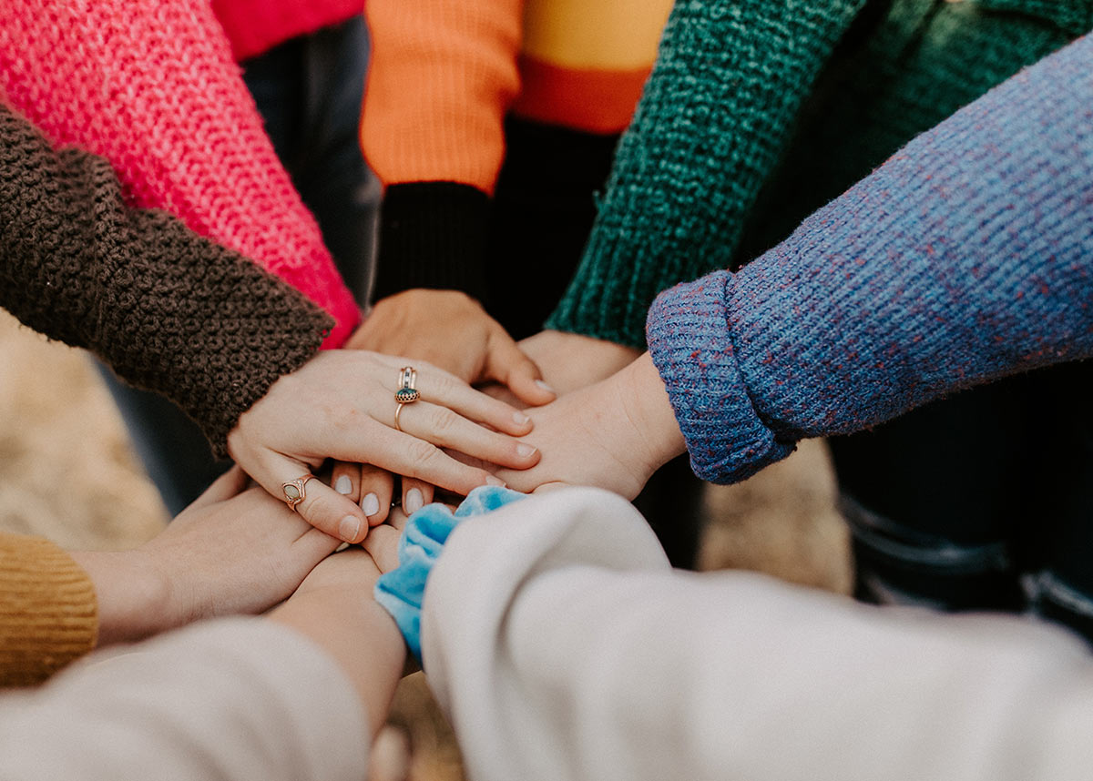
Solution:
{"label": "blurred cream sleeve at bottom left, without a scrunchie", "polygon": [[0,779],[361,781],[366,734],[321,649],[272,622],[219,619],[0,697]]}

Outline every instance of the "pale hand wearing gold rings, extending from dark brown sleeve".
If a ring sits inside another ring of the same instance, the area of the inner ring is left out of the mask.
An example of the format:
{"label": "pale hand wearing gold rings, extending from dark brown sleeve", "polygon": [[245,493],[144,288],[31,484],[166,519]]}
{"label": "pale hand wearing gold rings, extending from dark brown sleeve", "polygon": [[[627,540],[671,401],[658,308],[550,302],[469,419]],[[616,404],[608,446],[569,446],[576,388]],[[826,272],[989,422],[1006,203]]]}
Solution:
{"label": "pale hand wearing gold rings, extending from dark brown sleeve", "polygon": [[[495,478],[440,447],[512,469],[539,460],[534,448],[505,436],[527,434],[527,415],[420,360],[412,365],[421,401],[404,406],[402,430],[395,429],[398,372],[410,363],[365,351],[320,353],[279,378],[239,417],[227,436],[228,452],[277,498],[283,496],[282,484],[327,458],[369,463],[462,494]],[[367,533],[361,507],[319,481],[307,482],[296,509],[312,525],[345,542]]]}

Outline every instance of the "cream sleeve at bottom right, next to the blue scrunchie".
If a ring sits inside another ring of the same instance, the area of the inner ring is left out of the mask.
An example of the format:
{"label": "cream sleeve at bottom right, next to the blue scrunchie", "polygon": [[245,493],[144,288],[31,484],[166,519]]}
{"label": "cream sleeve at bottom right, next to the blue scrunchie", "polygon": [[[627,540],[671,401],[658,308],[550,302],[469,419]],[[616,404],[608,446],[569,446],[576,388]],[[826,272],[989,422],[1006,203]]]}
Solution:
{"label": "cream sleeve at bottom right, next to the blue scrunchie", "polygon": [[1071,637],[672,571],[596,489],[458,526],[422,622],[475,781],[1093,773],[1093,662]]}

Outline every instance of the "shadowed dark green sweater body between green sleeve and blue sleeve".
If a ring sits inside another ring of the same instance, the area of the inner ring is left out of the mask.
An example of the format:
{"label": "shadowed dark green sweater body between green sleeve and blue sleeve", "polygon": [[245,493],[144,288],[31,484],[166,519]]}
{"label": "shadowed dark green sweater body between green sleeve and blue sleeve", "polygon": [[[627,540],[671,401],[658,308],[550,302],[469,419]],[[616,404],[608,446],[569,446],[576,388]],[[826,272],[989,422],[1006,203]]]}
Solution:
{"label": "shadowed dark green sweater body between green sleeve and blue sleeve", "polygon": [[893,0],[886,10],[867,7],[802,106],[730,268],[785,239],[919,133],[1093,29],[1090,0],[1056,3],[1076,22],[1084,15],[1078,34],[1048,15],[1050,4]]}

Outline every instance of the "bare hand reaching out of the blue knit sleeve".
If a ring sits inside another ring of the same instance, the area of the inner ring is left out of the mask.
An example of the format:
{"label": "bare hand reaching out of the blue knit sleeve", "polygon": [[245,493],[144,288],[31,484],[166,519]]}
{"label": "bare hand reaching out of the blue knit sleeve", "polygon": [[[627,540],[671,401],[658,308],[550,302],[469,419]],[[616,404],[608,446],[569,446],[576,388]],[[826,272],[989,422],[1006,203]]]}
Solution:
{"label": "bare hand reaching out of the blue knit sleeve", "polygon": [[516,490],[595,485],[633,499],[659,466],[685,449],[648,354],[602,382],[528,412],[536,423],[529,440],[543,457],[525,472],[497,472]]}

